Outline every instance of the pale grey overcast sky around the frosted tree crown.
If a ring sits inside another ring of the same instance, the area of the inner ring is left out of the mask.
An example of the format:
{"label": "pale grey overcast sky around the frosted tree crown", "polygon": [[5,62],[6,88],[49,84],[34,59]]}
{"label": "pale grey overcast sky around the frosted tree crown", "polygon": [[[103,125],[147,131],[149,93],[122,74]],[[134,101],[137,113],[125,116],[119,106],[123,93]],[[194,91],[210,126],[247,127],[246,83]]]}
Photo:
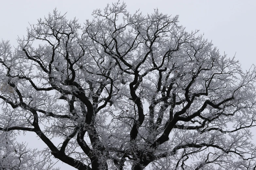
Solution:
{"label": "pale grey overcast sky around the frosted tree crown", "polygon": [[[0,40],[10,40],[17,46],[17,37],[26,36],[29,23],[47,16],[55,7],[61,13],[67,12],[68,19],[76,17],[83,24],[86,19],[92,20],[93,9],[106,7],[110,0],[0,0]],[[122,1],[121,1],[122,2]],[[213,41],[220,54],[224,51],[228,57],[235,55],[244,70],[256,64],[256,0],[124,0],[127,10],[136,10],[146,15],[158,8],[160,12],[172,16],[179,15],[179,24],[187,32],[199,29],[209,41]],[[235,54],[236,53],[236,54]],[[36,140],[35,134],[26,135],[33,148],[43,143]],[[256,138],[256,137],[255,137]],[[56,164],[61,170],[73,170],[71,166]]]}

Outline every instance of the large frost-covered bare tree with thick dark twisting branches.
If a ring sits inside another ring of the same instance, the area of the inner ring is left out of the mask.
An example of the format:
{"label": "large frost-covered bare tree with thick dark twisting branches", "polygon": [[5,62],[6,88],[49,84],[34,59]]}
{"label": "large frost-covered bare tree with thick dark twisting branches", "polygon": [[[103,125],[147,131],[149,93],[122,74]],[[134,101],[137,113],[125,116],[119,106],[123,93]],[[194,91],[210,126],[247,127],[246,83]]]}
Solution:
{"label": "large frost-covered bare tree with thick dark twisting branches", "polygon": [[2,41],[2,144],[36,133],[38,153],[79,170],[255,169],[254,66],[157,9],[118,2],[93,16],[82,27],[55,9],[15,50]]}

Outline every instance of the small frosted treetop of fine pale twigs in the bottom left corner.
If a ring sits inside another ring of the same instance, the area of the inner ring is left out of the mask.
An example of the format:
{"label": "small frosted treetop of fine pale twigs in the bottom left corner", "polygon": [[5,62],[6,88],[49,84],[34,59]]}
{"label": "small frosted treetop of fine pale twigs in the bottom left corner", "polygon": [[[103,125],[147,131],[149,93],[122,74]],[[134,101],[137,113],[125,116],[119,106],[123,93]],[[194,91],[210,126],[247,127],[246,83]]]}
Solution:
{"label": "small frosted treetop of fine pale twigs in the bottom left corner", "polygon": [[28,149],[25,143],[15,142],[13,132],[0,134],[0,169],[1,170],[59,170],[52,168],[54,163],[50,155],[34,149]]}

